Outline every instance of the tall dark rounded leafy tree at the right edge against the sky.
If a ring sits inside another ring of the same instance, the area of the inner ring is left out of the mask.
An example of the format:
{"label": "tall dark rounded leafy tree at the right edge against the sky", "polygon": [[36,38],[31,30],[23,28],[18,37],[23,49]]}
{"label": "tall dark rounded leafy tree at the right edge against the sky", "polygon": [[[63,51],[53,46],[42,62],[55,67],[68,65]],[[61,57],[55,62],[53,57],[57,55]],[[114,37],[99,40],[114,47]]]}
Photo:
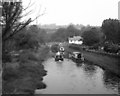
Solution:
{"label": "tall dark rounded leafy tree at the right edge against the sky", "polygon": [[106,41],[120,43],[120,21],[117,19],[106,19],[102,23],[102,30]]}

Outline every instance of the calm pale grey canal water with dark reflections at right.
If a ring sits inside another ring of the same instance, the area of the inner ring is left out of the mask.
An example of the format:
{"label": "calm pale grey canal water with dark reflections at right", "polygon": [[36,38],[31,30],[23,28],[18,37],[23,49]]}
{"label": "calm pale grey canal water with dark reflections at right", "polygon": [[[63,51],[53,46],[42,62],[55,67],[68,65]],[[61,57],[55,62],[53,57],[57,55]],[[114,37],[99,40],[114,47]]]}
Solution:
{"label": "calm pale grey canal water with dark reflections at right", "polygon": [[70,59],[55,62],[49,58],[43,63],[47,75],[46,89],[36,94],[118,94],[120,78],[89,63],[75,63]]}

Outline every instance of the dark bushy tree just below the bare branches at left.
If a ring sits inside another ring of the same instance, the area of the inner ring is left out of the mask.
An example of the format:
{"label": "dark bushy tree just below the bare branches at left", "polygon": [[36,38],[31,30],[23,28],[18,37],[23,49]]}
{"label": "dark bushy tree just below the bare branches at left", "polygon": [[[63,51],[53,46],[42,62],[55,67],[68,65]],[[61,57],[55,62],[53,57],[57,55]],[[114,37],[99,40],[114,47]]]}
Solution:
{"label": "dark bushy tree just below the bare branches at left", "polygon": [[27,28],[24,28],[19,33],[13,36],[15,41],[15,49],[13,50],[23,50],[23,49],[36,49],[38,47],[37,34],[34,32],[29,32]]}

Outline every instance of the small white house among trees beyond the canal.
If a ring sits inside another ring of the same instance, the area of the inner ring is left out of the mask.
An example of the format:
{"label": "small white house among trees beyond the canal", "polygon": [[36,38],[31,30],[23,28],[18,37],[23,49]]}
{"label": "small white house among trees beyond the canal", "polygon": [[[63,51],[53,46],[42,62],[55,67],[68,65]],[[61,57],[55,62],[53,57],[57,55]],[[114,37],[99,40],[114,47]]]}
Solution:
{"label": "small white house among trees beyond the canal", "polygon": [[81,45],[83,43],[83,38],[81,36],[73,36],[68,38],[69,44],[79,44]]}

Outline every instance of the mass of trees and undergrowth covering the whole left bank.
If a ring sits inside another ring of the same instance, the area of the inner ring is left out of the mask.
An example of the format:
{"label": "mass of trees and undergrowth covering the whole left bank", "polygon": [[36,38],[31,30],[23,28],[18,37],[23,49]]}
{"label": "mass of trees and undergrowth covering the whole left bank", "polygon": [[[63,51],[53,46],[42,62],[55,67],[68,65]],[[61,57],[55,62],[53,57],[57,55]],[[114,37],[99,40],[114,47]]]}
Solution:
{"label": "mass of trees and undergrowth covering the whole left bank", "polygon": [[30,5],[27,8],[23,8],[22,2],[1,5],[2,94],[34,94],[35,89],[46,87],[42,82],[46,75],[42,62],[49,52],[44,45],[45,31],[29,25],[39,16],[23,19]]}

